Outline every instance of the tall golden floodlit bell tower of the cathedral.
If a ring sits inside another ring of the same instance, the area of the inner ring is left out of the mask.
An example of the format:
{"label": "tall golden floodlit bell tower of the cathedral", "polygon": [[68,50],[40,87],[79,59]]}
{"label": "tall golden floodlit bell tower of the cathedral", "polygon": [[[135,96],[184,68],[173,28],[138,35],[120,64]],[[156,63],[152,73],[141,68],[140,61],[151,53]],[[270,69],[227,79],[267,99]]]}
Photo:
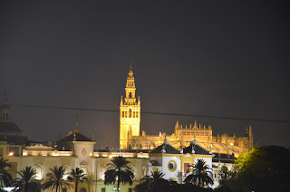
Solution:
{"label": "tall golden floodlit bell tower of the cathedral", "polygon": [[126,97],[121,96],[120,104],[120,148],[129,149],[128,138],[140,135],[140,97],[135,97],[135,80],[133,77],[132,63],[128,72],[126,83]]}

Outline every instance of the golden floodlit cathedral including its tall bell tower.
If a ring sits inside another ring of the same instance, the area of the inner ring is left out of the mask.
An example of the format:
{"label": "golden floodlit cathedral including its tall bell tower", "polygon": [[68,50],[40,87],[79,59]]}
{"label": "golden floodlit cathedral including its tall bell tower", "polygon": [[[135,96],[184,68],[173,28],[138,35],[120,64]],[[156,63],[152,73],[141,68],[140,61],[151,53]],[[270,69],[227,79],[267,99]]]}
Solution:
{"label": "golden floodlit cathedral including its tall bell tower", "polygon": [[[142,130],[140,135],[140,97],[136,98],[136,85],[132,67],[128,72],[125,98],[121,97],[120,104],[120,147],[121,149],[154,149],[167,139],[169,144],[177,149],[189,146],[189,142],[196,140],[204,149],[218,153],[231,153],[238,156],[253,148],[253,133],[249,126],[244,137],[227,135],[213,136],[210,125],[202,125],[195,120],[194,124],[181,125],[176,122],[172,134],[161,133],[147,135]],[[173,126],[172,126],[173,127]],[[173,129],[172,129],[173,130]]]}

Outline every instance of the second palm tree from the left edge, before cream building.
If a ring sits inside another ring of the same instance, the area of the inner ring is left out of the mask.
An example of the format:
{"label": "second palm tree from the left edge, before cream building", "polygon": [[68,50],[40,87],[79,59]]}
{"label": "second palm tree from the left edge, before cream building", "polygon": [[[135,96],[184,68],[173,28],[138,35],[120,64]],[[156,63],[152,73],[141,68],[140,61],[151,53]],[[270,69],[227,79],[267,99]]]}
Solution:
{"label": "second palm tree from the left edge, before cream building", "polygon": [[41,185],[38,180],[35,179],[36,172],[32,167],[26,167],[17,172],[20,178],[15,178],[12,187],[15,187],[15,191],[23,192],[37,192],[40,190]]}

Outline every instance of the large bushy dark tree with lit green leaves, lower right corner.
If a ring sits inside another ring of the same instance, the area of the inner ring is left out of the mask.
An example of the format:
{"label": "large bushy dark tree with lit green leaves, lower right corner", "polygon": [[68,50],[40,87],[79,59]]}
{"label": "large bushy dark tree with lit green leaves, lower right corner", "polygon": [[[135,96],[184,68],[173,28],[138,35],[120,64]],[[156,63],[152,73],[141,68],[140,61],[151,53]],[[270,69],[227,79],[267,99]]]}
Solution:
{"label": "large bushy dark tree with lit green leaves, lower right corner", "polygon": [[224,185],[237,191],[287,191],[290,151],[278,146],[254,148],[240,155]]}

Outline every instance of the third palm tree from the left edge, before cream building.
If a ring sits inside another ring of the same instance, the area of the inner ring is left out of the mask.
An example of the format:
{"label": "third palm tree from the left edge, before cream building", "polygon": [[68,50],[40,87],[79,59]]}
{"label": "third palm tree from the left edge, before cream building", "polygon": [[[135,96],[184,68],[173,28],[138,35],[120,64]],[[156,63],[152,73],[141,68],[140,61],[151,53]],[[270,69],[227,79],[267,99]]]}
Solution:
{"label": "third palm tree from the left edge, before cream building", "polygon": [[62,188],[70,188],[73,187],[67,180],[63,179],[65,175],[66,168],[54,166],[54,168],[50,168],[51,173],[46,174],[46,181],[43,183],[43,189],[51,188],[52,190],[55,188],[55,191],[59,191]]}

